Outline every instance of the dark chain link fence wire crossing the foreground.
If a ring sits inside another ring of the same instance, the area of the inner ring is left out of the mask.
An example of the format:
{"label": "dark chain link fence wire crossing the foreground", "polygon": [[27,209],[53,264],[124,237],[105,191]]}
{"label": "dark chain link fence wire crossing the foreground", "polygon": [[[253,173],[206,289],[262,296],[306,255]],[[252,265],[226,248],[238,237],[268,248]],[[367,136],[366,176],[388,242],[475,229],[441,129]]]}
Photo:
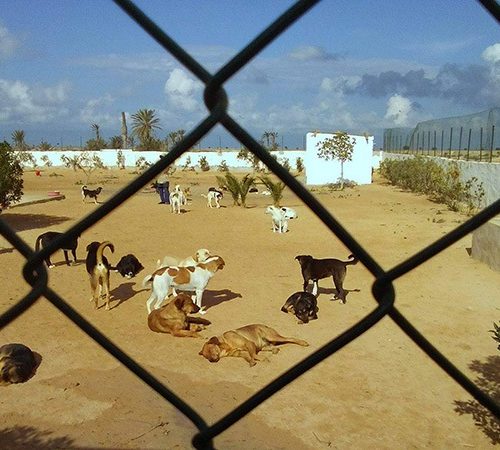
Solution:
{"label": "dark chain link fence wire crossing the foreground", "polygon": [[[388,271],[384,271],[370,254],[356,241],[356,239],[342,227],[342,225],[318,202],[313,195],[305,189],[287,170],[285,170],[250,134],[238,124],[227,112],[228,98],[223,84],[233,77],[254,56],[262,51],[268,44],[279,37],[296,20],[300,19],[319,0],[302,0],[296,2],[292,7],[278,17],[252,42],[235,55],[214,75],[210,74],[194,58],[192,58],[182,47],[171,39],[160,29],[152,19],[147,17],[133,2],[129,0],[114,0],[127,15],[129,15],[144,31],[155,39],[166,51],[172,54],[181,64],[189,69],[201,82],[205,84],[204,100],[209,110],[207,117],[200,122],[184,139],[164,157],[138,176],[121,191],[111,197],[106,203],[84,217],[79,223],[71,227],[63,236],[54,240],[49,246],[38,253],[33,252],[17,234],[0,218],[0,234],[6,238],[13,247],[25,258],[23,276],[32,286],[32,290],[20,301],[0,315],[0,329],[8,325],[20,316],[35,302],[45,298],[51,302],[61,313],[63,313],[76,326],[84,331],[90,338],[97,342],[104,350],[113,355],[131,372],[136,374],[142,381],[149,385],[165,400],[175,406],[197,427],[198,433],[193,437],[192,444],[197,449],[214,448],[213,438],[227,430],[242,417],[251,412],[261,403],[265,402],[273,394],[287,386],[296,378],[309,369],[334,354],[339,349],[352,342],[358,336],[369,330],[379,320],[389,316],[414,342],[418,345],[436,364],[438,364],[452,379],[462,386],[480,404],[486,407],[493,415],[500,418],[500,405],[480,390],[469,378],[457,369],[443,354],[441,354],[396,308],[395,291],[393,282],[404,276],[427,260],[445,250],[473,230],[500,214],[500,199],[490,204],[476,216],[472,217],[441,239],[419,251]],[[498,4],[494,1],[480,0],[480,3],[498,20],[500,16]],[[61,249],[65,242],[79,236],[89,229],[97,221],[111,213],[122,202],[137,193],[142,187],[153,180],[158,174],[173,164],[177,158],[187,152],[198,141],[206,136],[216,125],[222,125],[236,139],[254,153],[266,166],[272,170],[286,185],[318,216],[319,219],[337,236],[352,253],[375,277],[372,286],[373,297],[377,306],[362,320],[346,330],[344,333],[332,339],[314,354],[310,355],[300,363],[291,367],[274,381],[252,395],[245,402],[220,418],[217,422],[209,425],[193,408],[178,397],[173,391],[164,386],[148,371],[130,358],[116,344],[111,342],[99,330],[93,327],[84,317],[75,311],[63,298],[48,286],[47,269],[43,261]],[[390,389],[390,387],[388,387]]]}

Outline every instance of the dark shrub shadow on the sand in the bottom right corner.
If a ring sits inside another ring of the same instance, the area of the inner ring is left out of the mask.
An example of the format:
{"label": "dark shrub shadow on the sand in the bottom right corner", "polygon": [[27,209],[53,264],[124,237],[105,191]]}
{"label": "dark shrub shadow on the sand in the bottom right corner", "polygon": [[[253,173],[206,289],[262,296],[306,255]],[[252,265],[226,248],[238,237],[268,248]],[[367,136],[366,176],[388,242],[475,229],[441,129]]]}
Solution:
{"label": "dark shrub shadow on the sand in the bottom right corner", "polygon": [[[488,356],[485,362],[474,360],[469,368],[479,374],[474,380],[476,386],[500,403],[500,356]],[[455,400],[455,412],[470,414],[478,427],[493,445],[500,444],[500,420],[476,400]]]}

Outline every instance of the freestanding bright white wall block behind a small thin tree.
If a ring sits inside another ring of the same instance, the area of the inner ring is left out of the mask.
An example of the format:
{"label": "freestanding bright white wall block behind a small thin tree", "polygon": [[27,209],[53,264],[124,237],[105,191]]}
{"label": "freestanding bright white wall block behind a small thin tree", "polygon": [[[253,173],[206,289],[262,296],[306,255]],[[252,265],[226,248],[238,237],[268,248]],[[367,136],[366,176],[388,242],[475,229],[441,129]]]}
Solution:
{"label": "freestanding bright white wall block behind a small thin tree", "polygon": [[[373,136],[349,135],[356,139],[352,160],[344,163],[344,179],[355,181],[358,184],[372,182],[373,167]],[[306,167],[307,184],[336,183],[340,178],[340,161],[326,161],[318,157],[318,143],[333,137],[333,133],[307,133]]]}

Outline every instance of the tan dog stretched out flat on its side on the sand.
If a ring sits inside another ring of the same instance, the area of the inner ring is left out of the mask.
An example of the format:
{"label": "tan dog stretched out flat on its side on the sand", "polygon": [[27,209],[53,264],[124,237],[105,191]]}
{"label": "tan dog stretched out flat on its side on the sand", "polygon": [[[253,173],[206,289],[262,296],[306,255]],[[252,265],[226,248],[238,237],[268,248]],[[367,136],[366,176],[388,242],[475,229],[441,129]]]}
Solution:
{"label": "tan dog stretched out flat on its side on the sand", "polygon": [[199,354],[210,362],[217,362],[225,356],[239,356],[245,358],[250,366],[254,366],[256,361],[259,361],[257,353],[261,350],[278,353],[279,348],[274,346],[287,343],[303,347],[309,345],[301,339],[281,336],[276,330],[266,325],[253,324],[210,338],[205,342]]}

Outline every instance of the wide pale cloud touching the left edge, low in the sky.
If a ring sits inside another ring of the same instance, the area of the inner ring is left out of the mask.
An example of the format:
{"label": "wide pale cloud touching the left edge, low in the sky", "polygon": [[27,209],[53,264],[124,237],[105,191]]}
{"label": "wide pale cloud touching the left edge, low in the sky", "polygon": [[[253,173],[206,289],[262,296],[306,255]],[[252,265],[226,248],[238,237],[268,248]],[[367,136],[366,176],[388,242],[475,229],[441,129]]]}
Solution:
{"label": "wide pale cloud touching the left edge, low in the sky", "polygon": [[69,85],[30,87],[17,80],[0,79],[0,118],[4,121],[49,122],[66,112]]}

